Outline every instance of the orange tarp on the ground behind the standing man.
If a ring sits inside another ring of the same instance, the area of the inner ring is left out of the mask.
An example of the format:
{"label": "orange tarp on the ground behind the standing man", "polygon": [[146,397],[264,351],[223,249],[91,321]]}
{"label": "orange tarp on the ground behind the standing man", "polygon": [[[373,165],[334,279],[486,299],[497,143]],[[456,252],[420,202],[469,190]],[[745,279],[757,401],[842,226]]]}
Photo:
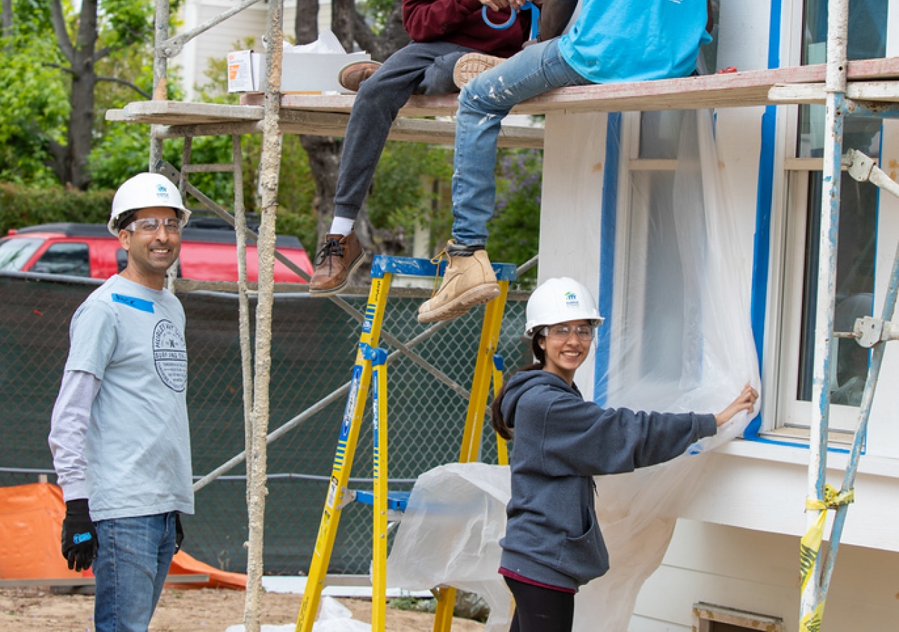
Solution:
{"label": "orange tarp on the ground behind the standing man", "polygon": [[[0,579],[66,579],[92,576],[68,569],[59,550],[66,503],[49,483],[0,487]],[[190,534],[188,534],[190,538]],[[174,556],[169,574],[208,574],[207,583],[179,588],[246,588],[246,575],[227,573],[187,555]]]}

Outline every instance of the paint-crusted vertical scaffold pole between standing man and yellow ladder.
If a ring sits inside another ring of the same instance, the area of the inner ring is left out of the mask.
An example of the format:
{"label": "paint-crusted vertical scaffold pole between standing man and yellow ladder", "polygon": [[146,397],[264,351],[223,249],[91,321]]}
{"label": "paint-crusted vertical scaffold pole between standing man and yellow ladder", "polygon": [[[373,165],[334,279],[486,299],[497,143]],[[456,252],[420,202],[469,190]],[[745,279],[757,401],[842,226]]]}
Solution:
{"label": "paint-crusted vertical scaffold pole between standing man and yellow ladder", "polygon": [[257,253],[259,295],[256,302],[256,354],[254,369],[252,447],[247,459],[249,487],[249,539],[247,542],[246,632],[259,632],[263,594],[263,525],[265,516],[266,435],[269,427],[269,382],[271,378],[271,311],[274,304],[275,212],[278,208],[278,175],[281,159],[280,114],[283,0],[269,2],[268,55],[265,61],[265,111],[263,152],[259,168],[262,213]]}

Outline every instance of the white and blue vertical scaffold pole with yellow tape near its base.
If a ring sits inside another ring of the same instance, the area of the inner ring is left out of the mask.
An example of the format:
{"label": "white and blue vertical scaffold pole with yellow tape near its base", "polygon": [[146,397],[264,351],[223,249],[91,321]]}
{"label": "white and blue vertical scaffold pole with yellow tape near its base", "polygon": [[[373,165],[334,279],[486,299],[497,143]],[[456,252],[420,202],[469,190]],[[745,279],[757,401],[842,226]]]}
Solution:
{"label": "white and blue vertical scaffold pole with yellow tape near its base", "polygon": [[820,258],[814,323],[814,382],[809,445],[806,536],[802,539],[802,592],[799,629],[821,627],[826,590],[823,589],[821,542],[828,505],[824,485],[827,474],[827,437],[831,405],[831,344],[836,301],[837,236],[840,225],[842,129],[846,99],[849,0],[827,3],[826,120],[821,205]]}

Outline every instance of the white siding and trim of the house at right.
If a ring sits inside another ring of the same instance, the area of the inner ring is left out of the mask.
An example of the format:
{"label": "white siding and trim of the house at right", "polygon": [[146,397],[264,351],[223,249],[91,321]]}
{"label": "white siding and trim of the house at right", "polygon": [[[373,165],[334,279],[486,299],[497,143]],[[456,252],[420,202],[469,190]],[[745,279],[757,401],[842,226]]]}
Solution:
{"label": "white siding and trim of the house at right", "polygon": [[[722,2],[718,67],[768,67],[770,2]],[[801,0],[782,0],[780,64],[798,64]],[[899,55],[899,0],[891,0],[887,56]],[[788,206],[788,158],[795,156],[796,107],[777,110],[770,226],[770,271],[763,352],[763,431],[783,423],[779,355],[788,344],[781,320],[786,218],[804,209]],[[734,256],[752,274],[763,108],[717,111],[716,137],[725,180],[738,214],[741,242]],[[626,113],[627,117],[635,114]],[[604,114],[547,116],[540,278],[569,275],[599,287]],[[624,127],[624,126],[623,126]],[[899,120],[886,121],[880,164],[899,174]],[[625,162],[628,147],[621,149]],[[619,180],[619,195],[622,182]],[[899,200],[879,198],[875,314],[899,245]],[[616,249],[626,248],[620,242]],[[757,299],[761,298],[756,296]],[[592,393],[592,362],[577,376]],[[823,619],[823,632],[899,630],[899,343],[889,343]],[[590,395],[587,395],[590,396]],[[691,607],[706,601],[782,617],[797,629],[799,536],[806,530],[806,447],[733,441],[709,459],[697,494],[681,513],[663,565],[645,583],[631,632],[690,629]],[[838,488],[846,455],[828,456],[828,481]],[[612,560],[614,564],[614,559]]]}

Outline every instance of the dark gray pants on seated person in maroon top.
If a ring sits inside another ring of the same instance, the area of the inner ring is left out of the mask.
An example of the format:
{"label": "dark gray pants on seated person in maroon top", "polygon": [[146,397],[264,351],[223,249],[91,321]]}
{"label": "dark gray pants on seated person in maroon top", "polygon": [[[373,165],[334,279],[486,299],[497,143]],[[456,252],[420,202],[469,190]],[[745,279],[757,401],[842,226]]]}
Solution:
{"label": "dark gray pants on seated person in maroon top", "polygon": [[359,214],[396,112],[412,94],[458,93],[453,67],[458,58],[475,52],[448,41],[414,41],[361,83],[343,139],[334,215],[355,219]]}

